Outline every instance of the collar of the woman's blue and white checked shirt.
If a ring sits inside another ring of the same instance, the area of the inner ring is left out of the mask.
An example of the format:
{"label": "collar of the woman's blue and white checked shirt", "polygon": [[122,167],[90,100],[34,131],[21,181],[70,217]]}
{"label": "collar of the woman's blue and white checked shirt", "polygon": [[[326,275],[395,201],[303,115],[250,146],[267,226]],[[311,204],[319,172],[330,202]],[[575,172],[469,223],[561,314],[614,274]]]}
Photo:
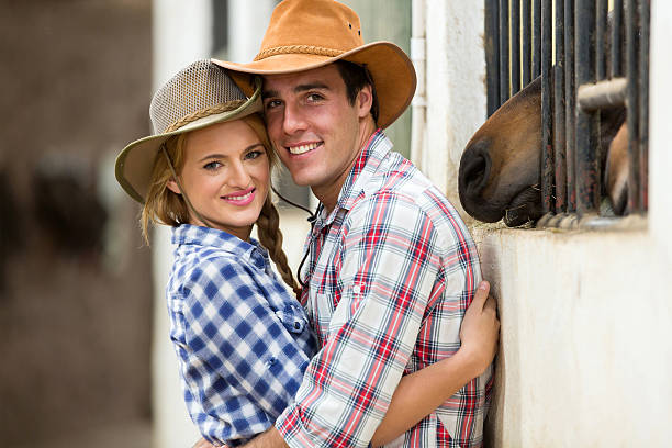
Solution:
{"label": "collar of the woman's blue and white checked shirt", "polygon": [[255,238],[244,242],[217,228],[181,224],[172,227],[172,244],[216,247],[236,257],[249,259],[260,268],[268,265],[268,251]]}

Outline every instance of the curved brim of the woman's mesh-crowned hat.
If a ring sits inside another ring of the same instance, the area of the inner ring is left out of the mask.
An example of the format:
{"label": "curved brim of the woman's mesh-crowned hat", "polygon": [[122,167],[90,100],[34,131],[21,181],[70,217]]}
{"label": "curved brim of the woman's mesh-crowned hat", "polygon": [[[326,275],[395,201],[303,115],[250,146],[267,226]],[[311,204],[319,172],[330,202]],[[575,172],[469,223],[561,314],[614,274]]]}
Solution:
{"label": "curved brim of the woman's mesh-crowned hat", "polygon": [[126,145],[116,156],[116,161],[114,164],[114,175],[120,186],[131,198],[139,203],[145,203],[145,197],[149,189],[154,159],[161,145],[173,135],[197,131],[216,123],[234,121],[251,115],[253,113],[261,112],[261,82],[256,82],[256,88],[250,88],[250,93],[246,94],[249,99],[236,109],[208,115],[188,123],[178,130],[150,135]]}

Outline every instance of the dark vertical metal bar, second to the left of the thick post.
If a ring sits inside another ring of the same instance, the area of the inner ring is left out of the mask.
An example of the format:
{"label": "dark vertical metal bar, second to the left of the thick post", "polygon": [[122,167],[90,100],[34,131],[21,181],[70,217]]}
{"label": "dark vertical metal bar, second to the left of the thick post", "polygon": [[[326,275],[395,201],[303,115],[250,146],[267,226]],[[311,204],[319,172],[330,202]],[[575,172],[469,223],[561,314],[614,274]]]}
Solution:
{"label": "dark vertical metal bar, second to the left of the thick post", "polygon": [[564,0],[556,0],[556,67],[553,68],[553,150],[556,213],[567,212],[567,131],[564,101]]}

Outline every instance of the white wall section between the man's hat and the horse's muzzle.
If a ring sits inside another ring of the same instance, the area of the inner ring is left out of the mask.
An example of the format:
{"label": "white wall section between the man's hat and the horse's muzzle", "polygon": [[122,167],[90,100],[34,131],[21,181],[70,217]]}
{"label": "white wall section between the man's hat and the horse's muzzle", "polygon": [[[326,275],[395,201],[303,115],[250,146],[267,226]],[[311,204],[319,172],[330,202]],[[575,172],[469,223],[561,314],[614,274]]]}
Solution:
{"label": "white wall section between the man's hat and the horse's muzzle", "polygon": [[427,128],[414,161],[461,212],[460,156],[486,114],[482,2],[426,0],[425,20]]}

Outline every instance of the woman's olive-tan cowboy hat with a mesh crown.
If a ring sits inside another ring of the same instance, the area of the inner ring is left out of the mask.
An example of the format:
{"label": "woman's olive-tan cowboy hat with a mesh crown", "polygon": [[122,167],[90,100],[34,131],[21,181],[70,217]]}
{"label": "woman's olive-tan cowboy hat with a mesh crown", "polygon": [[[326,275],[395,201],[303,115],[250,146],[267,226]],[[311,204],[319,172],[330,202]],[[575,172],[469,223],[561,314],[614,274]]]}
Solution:
{"label": "woman's olive-tan cowboy hat with a mesh crown", "polygon": [[145,202],[154,159],[171,136],[260,112],[261,81],[255,83],[247,99],[225,70],[208,59],[175,75],[149,104],[154,134],[131,143],[116,157],[116,180],[126,193]]}

